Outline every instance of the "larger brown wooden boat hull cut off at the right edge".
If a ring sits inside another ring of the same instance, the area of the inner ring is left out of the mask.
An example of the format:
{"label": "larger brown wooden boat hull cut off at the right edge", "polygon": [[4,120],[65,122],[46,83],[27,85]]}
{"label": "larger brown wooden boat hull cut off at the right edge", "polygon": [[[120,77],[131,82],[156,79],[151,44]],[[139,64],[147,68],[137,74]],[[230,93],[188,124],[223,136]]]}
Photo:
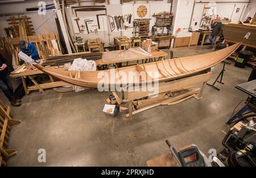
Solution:
{"label": "larger brown wooden boat hull cut off at the right edge", "polygon": [[[224,38],[226,41],[232,43],[238,43],[242,41],[242,45],[251,46],[256,48],[256,26],[249,24],[224,24],[222,28]],[[245,35],[250,32],[248,39],[245,39]]]}

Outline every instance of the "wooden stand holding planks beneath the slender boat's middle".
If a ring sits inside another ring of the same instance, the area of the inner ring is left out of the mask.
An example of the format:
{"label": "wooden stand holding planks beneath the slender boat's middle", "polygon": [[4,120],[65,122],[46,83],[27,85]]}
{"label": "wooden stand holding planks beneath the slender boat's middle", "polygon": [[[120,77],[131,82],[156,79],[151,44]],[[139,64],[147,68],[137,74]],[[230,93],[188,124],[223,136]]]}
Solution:
{"label": "wooden stand holding planks beneath the slender boat's middle", "polygon": [[[127,91],[122,91],[122,101],[127,101],[129,108],[129,114],[126,116],[132,118],[133,115],[158,105],[177,104],[192,97],[199,100],[203,98],[205,85],[211,74],[205,73],[171,82],[161,82],[157,90],[155,87],[155,90],[158,91],[157,93],[149,92],[146,86],[140,86],[139,90],[133,90],[128,87]],[[198,84],[201,84],[201,88],[196,88]],[[158,96],[155,98],[148,98],[156,94]],[[137,108],[136,111],[133,111],[133,105]]]}

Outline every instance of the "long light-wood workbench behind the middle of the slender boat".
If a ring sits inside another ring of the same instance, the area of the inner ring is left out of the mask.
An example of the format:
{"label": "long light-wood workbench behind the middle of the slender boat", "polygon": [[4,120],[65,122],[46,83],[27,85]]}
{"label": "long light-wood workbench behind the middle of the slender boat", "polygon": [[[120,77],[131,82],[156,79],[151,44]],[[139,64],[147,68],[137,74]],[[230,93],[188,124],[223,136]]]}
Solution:
{"label": "long light-wood workbench behind the middle of the slender boat", "polygon": [[[146,56],[139,53],[131,52],[130,50],[112,50],[102,53],[102,59],[96,60],[97,65],[110,65],[119,62],[131,62],[138,60],[150,60],[151,58],[164,58],[168,54],[162,50],[154,50],[150,53],[152,56]],[[147,62],[147,61],[146,61]]]}

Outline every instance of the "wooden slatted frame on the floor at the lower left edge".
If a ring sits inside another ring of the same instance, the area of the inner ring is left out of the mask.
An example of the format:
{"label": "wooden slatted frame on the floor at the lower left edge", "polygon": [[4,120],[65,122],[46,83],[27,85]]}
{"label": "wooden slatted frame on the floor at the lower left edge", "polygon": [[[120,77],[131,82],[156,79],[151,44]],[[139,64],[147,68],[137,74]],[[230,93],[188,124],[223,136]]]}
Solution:
{"label": "wooden slatted frame on the floor at the lower left edge", "polygon": [[7,150],[11,126],[21,122],[11,117],[11,108],[0,100],[0,166],[6,166],[6,160],[17,153],[16,150]]}

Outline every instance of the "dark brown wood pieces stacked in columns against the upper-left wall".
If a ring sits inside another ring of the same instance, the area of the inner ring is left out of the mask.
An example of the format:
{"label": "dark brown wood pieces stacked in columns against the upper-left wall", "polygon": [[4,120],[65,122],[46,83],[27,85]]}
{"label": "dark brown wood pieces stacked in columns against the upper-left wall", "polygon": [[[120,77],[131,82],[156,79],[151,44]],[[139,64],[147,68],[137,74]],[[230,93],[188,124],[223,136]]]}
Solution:
{"label": "dark brown wood pieces stacked in columns against the upper-left wall", "polygon": [[32,25],[32,22],[30,21],[31,18],[28,18],[26,15],[23,15],[21,17],[15,18],[14,16],[10,17],[10,19],[7,19],[7,22],[11,25],[11,31],[13,33],[13,37],[19,37],[19,23],[22,22],[24,24],[24,28],[26,29],[27,35],[34,35],[35,31]]}

